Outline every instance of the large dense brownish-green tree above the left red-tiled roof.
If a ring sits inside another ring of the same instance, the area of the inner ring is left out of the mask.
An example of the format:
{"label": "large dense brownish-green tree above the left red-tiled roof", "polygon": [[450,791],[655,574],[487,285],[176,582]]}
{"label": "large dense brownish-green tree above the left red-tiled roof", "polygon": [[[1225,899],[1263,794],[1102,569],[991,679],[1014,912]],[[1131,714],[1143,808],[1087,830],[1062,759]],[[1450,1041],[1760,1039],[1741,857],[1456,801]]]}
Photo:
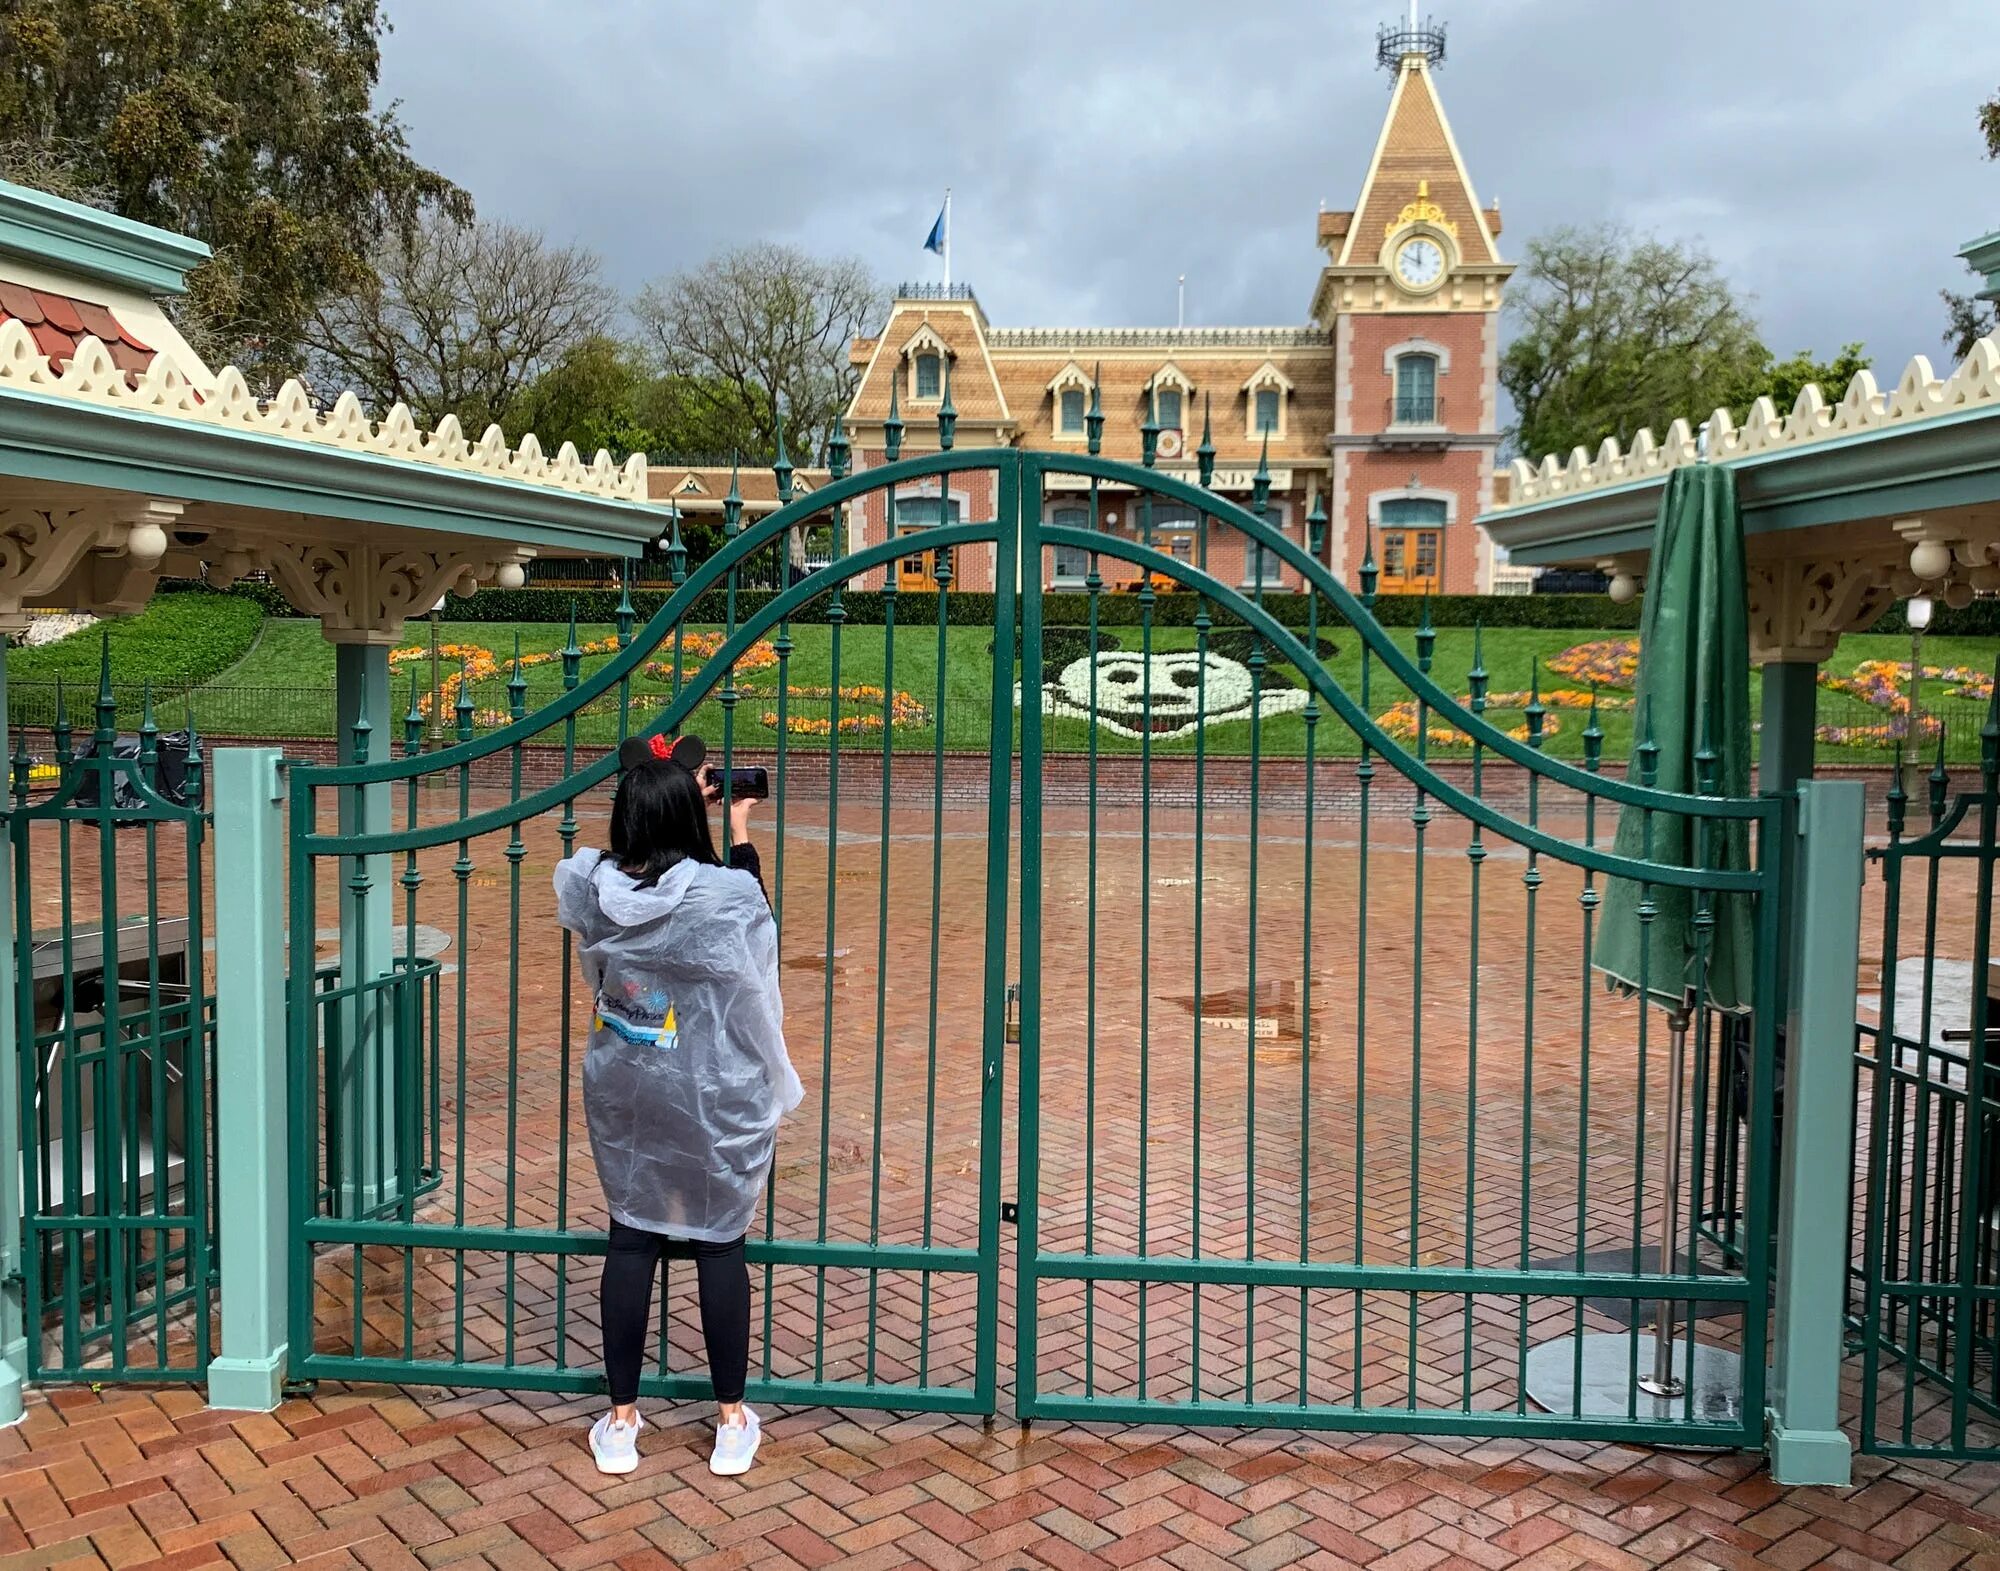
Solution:
{"label": "large dense brownish-green tree above the left red-tiled roof", "polygon": [[190,340],[294,372],[386,236],[472,214],[374,106],[384,30],[380,0],[0,0],[0,168],[206,240]]}

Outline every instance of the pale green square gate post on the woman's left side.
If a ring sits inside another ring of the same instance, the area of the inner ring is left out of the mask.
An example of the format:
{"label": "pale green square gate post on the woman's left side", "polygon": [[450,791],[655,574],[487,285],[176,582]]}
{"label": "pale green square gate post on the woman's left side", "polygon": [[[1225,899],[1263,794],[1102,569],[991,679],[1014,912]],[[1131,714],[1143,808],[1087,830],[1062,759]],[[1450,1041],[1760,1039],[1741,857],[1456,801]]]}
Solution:
{"label": "pale green square gate post on the woman's left side", "polygon": [[284,786],[276,748],[224,748],[216,803],[216,1151],[222,1357],[208,1405],[270,1411],[284,1387]]}

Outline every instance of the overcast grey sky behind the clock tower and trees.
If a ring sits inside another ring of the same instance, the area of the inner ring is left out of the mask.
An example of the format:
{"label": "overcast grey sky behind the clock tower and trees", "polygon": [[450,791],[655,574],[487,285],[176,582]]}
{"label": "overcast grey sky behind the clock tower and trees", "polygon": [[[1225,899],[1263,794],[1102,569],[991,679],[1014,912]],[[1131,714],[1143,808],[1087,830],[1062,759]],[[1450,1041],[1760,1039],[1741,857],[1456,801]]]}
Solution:
{"label": "overcast grey sky behind the clock tower and trees", "polygon": [[[386,0],[384,94],[480,212],[634,288],[748,240],[936,278],[1004,326],[1302,322],[1354,206],[1394,0]],[[1944,360],[2000,226],[1974,112],[2000,0],[1456,0],[1440,74],[1502,250],[1618,220],[1706,244],[1778,352]],[[1672,26],[1664,26],[1672,20]]]}

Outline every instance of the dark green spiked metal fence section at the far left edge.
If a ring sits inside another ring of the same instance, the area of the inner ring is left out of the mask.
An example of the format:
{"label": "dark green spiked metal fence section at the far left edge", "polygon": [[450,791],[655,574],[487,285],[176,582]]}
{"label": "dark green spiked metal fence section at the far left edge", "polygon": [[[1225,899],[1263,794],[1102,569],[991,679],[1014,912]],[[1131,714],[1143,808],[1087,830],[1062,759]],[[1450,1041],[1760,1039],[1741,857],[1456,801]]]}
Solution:
{"label": "dark green spiked metal fence section at the far left edge", "polygon": [[200,1379],[212,1351],[214,997],[202,750],[150,696],[124,756],[106,654],[52,778],[12,760],[22,1287],[38,1381]]}

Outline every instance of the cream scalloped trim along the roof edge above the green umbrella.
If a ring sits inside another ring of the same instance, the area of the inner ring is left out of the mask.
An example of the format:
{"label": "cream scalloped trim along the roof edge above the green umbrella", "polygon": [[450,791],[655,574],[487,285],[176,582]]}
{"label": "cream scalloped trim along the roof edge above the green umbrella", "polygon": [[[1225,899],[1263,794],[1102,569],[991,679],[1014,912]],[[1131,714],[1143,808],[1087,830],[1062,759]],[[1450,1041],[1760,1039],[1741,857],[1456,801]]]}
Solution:
{"label": "cream scalloped trim along the roof edge above the green umbrella", "polygon": [[[1904,368],[1892,392],[1882,392],[1874,372],[1862,370],[1848,382],[1846,396],[1838,404],[1828,404],[1818,386],[1806,384],[1786,416],[1778,414],[1770,398],[1760,398],[1750,406],[1742,428],[1730,420],[1728,410],[1716,410],[1702,422],[1702,430],[1708,438],[1708,462],[1716,464],[1992,404],[2000,404],[2000,334],[1976,342],[1948,378],[1938,378],[1930,370],[1928,356],[1920,354]],[[1556,454],[1548,454],[1540,464],[1516,458],[1510,466],[1512,494],[1496,512],[1634,480],[1658,480],[1698,458],[1696,436],[1686,420],[1668,426],[1664,442],[1652,430],[1632,438],[1630,448],[1620,448],[1616,438],[1604,438],[1596,458],[1584,448],[1574,448],[1568,460],[1560,462]]]}

